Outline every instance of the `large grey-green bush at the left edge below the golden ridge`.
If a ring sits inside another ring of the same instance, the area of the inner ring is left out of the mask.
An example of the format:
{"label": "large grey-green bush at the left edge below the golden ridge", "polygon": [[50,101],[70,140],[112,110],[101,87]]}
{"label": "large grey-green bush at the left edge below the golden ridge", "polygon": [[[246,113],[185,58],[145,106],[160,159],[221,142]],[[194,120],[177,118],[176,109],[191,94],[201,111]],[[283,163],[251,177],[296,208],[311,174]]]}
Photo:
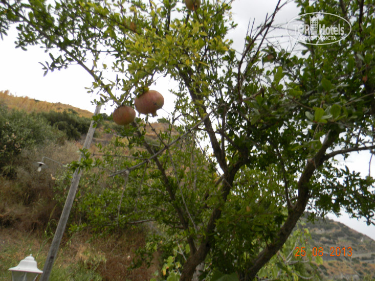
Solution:
{"label": "large grey-green bush at the left edge below the golden ridge", "polygon": [[41,116],[0,106],[0,174],[14,176],[12,163],[21,151],[59,136]]}

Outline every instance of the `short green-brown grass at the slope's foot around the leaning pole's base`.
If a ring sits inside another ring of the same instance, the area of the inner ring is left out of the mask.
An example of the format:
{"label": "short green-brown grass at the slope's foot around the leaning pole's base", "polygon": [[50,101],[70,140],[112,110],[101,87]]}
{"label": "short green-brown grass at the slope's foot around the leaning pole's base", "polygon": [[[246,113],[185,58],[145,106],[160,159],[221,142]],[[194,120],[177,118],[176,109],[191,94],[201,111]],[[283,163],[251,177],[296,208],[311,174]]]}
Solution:
{"label": "short green-brown grass at the slope's foot around the leaning pole's base", "polygon": [[[95,238],[88,232],[76,233],[71,238],[64,236],[60,245],[52,275],[65,275],[65,280],[75,271],[96,272],[103,281],[149,280],[152,273],[158,270],[155,260],[150,268],[142,266],[128,270],[137,247],[144,245],[144,233],[131,230],[117,236]],[[39,269],[43,268],[50,243],[39,238],[35,233],[25,233],[17,228],[0,228],[0,281],[11,278],[8,268],[16,266],[19,261],[32,254]],[[61,278],[60,278],[61,279]],[[54,278],[51,277],[51,281]]]}

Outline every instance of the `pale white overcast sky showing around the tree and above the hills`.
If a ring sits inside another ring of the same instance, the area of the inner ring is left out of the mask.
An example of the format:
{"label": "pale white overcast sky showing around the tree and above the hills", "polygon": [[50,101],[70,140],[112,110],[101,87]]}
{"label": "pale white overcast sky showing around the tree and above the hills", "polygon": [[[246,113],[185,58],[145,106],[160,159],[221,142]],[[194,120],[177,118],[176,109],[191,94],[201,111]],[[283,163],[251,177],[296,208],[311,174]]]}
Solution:
{"label": "pale white overcast sky showing around the tree and above the hills", "polygon": [[[267,13],[272,13],[275,4],[275,0],[237,0],[234,2],[232,10],[233,19],[239,24],[237,29],[231,32],[235,48],[241,50],[249,20],[252,21],[255,19],[255,26],[260,24]],[[286,23],[297,16],[298,12],[299,10],[295,5],[290,4],[278,13],[276,21]],[[293,41],[285,31],[280,30],[280,34],[282,33],[285,36],[280,41]],[[4,37],[3,41],[0,40],[0,90],[9,90],[15,96],[26,96],[52,103],[70,104],[94,112],[95,105],[92,104],[92,100],[96,97],[91,96],[85,89],[85,87],[89,87],[92,83],[92,77],[89,74],[81,67],[74,65],[68,69],[55,71],[43,77],[42,66],[38,62],[49,61],[48,54],[44,53],[38,46],[28,48],[27,52],[15,49],[15,35],[15,29],[13,29],[9,32],[9,36]],[[165,97],[166,102],[163,108],[166,111],[159,110],[158,113],[159,118],[160,116],[166,116],[167,111],[172,110],[171,108],[173,108],[173,101],[175,99],[169,93],[169,89],[177,88],[177,84],[165,78],[161,79],[152,88],[160,91]],[[113,110],[114,108],[106,105],[102,109],[102,112],[110,114]],[[368,161],[368,153],[358,153],[349,157],[345,163],[342,161],[341,165],[347,165],[349,169],[355,169],[365,176],[368,175]],[[375,169],[371,169],[371,172],[373,175]],[[367,226],[363,221],[349,219],[347,214],[338,219],[334,215],[329,215],[328,217],[345,223],[349,227],[375,240],[375,226]]]}

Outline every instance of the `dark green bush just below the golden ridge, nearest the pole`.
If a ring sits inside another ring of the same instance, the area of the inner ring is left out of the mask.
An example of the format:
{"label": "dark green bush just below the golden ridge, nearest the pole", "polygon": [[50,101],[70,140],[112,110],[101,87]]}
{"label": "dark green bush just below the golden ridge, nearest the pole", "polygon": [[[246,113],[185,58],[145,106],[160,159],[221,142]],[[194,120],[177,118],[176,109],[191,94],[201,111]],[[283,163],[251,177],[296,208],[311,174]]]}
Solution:
{"label": "dark green bush just below the golden ridge, nearest the pole", "polygon": [[73,109],[63,112],[41,112],[39,115],[45,118],[51,126],[67,134],[69,139],[79,139],[81,134],[87,133],[91,123],[89,118],[78,116]]}

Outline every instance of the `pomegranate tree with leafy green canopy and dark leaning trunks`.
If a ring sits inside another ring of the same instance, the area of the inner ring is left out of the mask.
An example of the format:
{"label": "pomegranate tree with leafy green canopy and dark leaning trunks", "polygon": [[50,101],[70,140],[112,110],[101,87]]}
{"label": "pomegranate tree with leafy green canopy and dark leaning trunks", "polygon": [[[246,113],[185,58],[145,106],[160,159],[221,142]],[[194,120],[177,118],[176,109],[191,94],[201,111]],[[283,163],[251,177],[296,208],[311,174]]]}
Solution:
{"label": "pomegranate tree with leafy green canopy and dark leaning trunks", "polygon": [[[126,199],[143,202],[137,219],[157,221],[168,243],[184,246],[180,280],[208,269],[254,279],[305,210],[343,209],[374,224],[373,177],[337,165],[339,156],[375,148],[373,2],[297,0],[303,21],[319,11],[352,28],[337,43],[301,43],[299,51],[271,40],[280,1],[234,50],[232,2],[189,11],[180,0],[0,1],[0,33],[16,25],[17,47],[50,52],[46,73],[81,65],[98,103],[131,106],[157,77],[178,82],[168,129],[151,141],[142,115],[123,129],[126,144],[116,143],[137,158],[108,167],[137,183]],[[120,213],[112,221],[130,217]]]}

